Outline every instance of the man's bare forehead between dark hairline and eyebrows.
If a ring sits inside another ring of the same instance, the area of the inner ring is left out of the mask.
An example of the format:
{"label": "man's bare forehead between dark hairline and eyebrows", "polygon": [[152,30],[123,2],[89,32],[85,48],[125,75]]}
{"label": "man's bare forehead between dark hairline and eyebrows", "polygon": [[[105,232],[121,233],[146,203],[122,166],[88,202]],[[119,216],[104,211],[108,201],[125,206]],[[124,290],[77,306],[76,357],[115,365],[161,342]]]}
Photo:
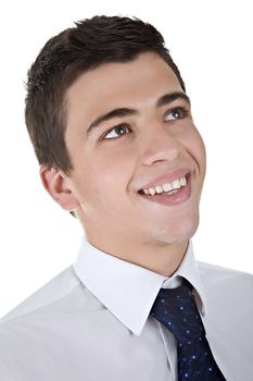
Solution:
{"label": "man's bare forehead between dark hairline and eyebrows", "polygon": [[142,53],[126,63],[106,63],[80,75],[68,88],[67,121],[89,123],[110,109],[155,105],[163,94],[178,90],[176,75],[155,53]]}

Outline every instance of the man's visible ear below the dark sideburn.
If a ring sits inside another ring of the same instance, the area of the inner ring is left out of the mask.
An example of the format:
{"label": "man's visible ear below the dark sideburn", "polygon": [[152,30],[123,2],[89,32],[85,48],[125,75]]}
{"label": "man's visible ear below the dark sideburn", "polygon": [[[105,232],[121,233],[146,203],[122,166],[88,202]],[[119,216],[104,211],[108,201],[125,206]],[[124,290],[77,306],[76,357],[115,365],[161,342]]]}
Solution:
{"label": "man's visible ear below the dark sideburn", "polygon": [[62,171],[41,165],[39,173],[43,187],[63,209],[72,211],[79,207],[79,201],[69,187],[69,179]]}

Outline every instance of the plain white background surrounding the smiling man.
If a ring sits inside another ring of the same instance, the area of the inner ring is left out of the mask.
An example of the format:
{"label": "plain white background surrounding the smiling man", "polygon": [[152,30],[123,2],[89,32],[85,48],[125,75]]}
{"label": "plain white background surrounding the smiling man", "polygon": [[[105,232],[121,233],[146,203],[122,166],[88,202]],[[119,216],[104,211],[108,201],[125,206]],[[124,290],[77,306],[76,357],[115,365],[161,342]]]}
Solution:
{"label": "plain white background surrounding the smiling man", "polygon": [[0,316],[71,265],[79,248],[78,221],[40,184],[24,125],[24,82],[46,40],[94,14],[135,15],[164,35],[207,149],[197,258],[253,272],[250,3],[23,0],[0,7]]}

